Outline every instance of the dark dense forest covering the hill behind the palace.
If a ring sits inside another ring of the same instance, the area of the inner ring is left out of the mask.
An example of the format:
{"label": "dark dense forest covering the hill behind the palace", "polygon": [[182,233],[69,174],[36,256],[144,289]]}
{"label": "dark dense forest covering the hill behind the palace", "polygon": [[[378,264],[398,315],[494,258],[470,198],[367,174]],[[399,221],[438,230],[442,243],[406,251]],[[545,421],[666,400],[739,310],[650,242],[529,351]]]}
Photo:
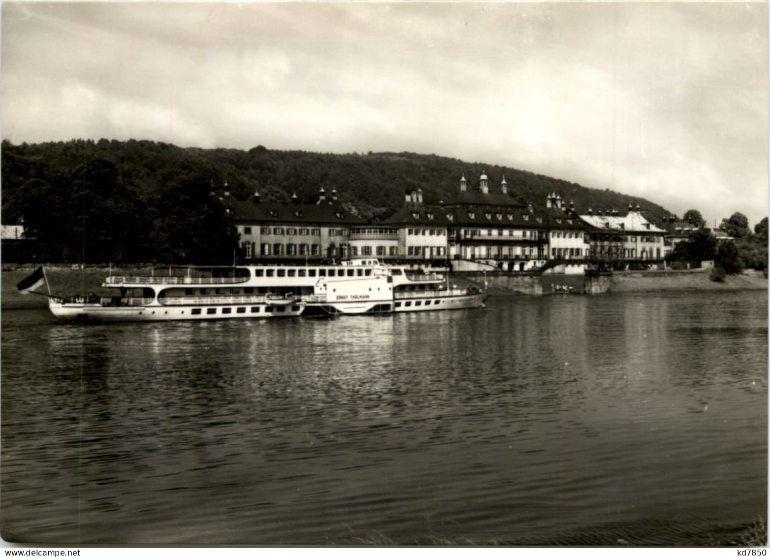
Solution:
{"label": "dark dense forest covering the hill behind the palace", "polygon": [[177,257],[186,251],[209,257],[214,255],[209,249],[200,254],[204,245],[212,245],[213,239],[233,241],[227,230],[202,238],[190,232],[227,221],[208,195],[211,184],[227,181],[235,197],[259,191],[267,201],[289,201],[293,193],[302,201],[315,201],[321,187],[336,189],[349,210],[378,219],[401,206],[406,189],[420,187],[426,203],[436,204],[457,193],[463,174],[470,189],[477,187],[483,171],[491,191],[505,176],[513,196],[537,207],[554,191],[574,201],[578,211],[618,208],[624,213],[631,203],[640,204],[655,221],[668,214],[639,197],[433,154],[322,154],[263,146],[198,149],[102,139],[21,145],[3,141],[2,220],[15,224],[23,218],[25,228],[41,241],[128,242],[151,245],[169,257],[173,251]]}

